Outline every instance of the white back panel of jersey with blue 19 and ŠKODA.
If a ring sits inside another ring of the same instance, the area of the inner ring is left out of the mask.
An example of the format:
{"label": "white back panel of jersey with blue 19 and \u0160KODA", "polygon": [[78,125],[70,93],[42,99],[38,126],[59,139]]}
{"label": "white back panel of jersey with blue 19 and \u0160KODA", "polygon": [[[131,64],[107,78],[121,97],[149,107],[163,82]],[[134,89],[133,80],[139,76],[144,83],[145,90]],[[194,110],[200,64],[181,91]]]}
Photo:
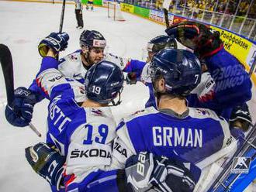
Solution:
{"label": "white back panel of jersey with blue 19 and \u0160KODA", "polygon": [[76,119],[77,128],[69,134],[66,162],[67,174],[82,174],[83,177],[92,170],[106,170],[111,163],[112,142],[116,137],[116,122],[110,108],[85,108],[85,115],[86,122],[79,123]]}

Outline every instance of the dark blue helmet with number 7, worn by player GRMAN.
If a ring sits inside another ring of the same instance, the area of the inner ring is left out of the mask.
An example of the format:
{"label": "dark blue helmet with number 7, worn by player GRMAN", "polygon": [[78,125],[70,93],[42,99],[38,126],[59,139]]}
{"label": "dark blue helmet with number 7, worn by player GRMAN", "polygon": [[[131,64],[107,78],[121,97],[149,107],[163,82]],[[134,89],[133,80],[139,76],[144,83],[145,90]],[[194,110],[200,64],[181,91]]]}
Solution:
{"label": "dark blue helmet with number 7, worn by player GRMAN", "polygon": [[165,93],[185,97],[201,80],[200,62],[188,50],[164,49],[154,55],[150,77],[153,84],[163,77]]}

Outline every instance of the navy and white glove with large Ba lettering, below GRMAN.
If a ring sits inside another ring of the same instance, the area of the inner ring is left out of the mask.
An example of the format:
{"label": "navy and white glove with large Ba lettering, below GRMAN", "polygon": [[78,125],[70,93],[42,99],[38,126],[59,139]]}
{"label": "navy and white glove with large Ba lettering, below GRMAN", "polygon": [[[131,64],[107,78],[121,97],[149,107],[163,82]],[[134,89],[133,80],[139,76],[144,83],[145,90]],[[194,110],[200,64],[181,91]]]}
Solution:
{"label": "navy and white glove with large Ba lettering, below GRMAN", "polygon": [[[199,168],[196,169],[200,175]],[[178,160],[142,152],[127,159],[126,180],[133,191],[192,191],[199,177],[194,179]]]}

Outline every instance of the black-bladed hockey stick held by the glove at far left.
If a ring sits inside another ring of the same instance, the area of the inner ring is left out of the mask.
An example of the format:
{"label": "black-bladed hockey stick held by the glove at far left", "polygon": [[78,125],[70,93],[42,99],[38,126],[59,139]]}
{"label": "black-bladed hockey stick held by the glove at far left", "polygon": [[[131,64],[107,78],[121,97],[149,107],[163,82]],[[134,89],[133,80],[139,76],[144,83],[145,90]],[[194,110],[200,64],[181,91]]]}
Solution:
{"label": "black-bladed hockey stick held by the glove at far left", "polygon": [[[2,66],[2,72],[5,78],[5,90],[7,95],[7,105],[11,106],[12,101],[14,100],[14,84],[13,84],[13,64],[12,64],[12,54],[8,46],[0,44],[0,63]],[[30,129],[36,133],[39,137],[41,136],[40,132],[36,127],[30,122]]]}

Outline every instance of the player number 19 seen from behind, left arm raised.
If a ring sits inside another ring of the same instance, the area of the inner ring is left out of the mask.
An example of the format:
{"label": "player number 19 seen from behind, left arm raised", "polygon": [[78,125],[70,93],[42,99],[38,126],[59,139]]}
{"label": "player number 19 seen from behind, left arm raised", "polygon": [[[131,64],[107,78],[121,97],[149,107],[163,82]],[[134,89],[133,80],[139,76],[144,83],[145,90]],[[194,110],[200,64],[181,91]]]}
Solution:
{"label": "player number 19 seen from behind, left arm raised", "polygon": [[[67,34],[59,36],[60,44],[64,44]],[[129,159],[125,169],[107,171],[116,137],[108,105],[118,104],[114,98],[122,91],[122,71],[105,60],[93,65],[85,74],[85,98],[81,84],[57,70],[55,54],[55,50],[48,50],[36,75],[37,84],[50,98],[47,137],[51,141],[26,149],[26,159],[36,173],[57,190],[64,185],[65,191],[168,189],[175,182],[185,191],[193,189],[195,179],[182,163],[153,158],[152,154],[140,153]],[[61,154],[50,146],[57,147]],[[173,169],[182,171],[182,177],[171,173]]]}

